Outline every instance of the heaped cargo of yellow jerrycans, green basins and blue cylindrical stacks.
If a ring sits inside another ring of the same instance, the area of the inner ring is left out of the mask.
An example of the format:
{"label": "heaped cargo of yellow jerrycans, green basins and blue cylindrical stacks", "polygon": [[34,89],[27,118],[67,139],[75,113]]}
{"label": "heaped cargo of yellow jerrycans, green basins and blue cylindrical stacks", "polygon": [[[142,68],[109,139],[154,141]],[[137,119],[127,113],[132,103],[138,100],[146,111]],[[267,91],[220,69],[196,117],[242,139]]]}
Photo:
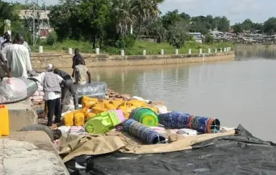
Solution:
{"label": "heaped cargo of yellow jerrycans, green basins and blue cylindrical stacks", "polygon": [[[110,91],[109,91],[110,92]],[[125,131],[147,144],[167,143],[167,133],[184,137],[201,133],[224,132],[217,118],[193,116],[188,113],[168,111],[166,106],[152,105],[150,100],[139,97],[81,98],[81,109],[64,115],[63,132],[79,129],[77,134],[103,134]],[[120,96],[121,97],[121,96]]]}

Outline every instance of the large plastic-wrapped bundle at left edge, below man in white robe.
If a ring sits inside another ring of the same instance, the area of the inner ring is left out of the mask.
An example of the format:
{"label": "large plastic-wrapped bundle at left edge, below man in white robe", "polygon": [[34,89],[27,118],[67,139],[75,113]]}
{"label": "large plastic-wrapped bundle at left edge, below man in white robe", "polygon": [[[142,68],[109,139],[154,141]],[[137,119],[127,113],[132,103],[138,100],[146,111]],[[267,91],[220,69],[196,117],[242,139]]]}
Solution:
{"label": "large plastic-wrapped bundle at left edge, below man in white robe", "polygon": [[19,102],[37,91],[37,84],[25,78],[3,78],[0,82],[0,104]]}

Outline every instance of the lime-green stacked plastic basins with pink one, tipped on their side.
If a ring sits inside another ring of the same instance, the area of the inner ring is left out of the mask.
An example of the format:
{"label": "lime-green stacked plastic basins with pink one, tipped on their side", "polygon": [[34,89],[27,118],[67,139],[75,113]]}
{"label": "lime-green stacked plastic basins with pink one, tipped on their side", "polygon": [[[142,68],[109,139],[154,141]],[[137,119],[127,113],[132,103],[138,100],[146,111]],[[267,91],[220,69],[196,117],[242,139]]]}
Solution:
{"label": "lime-green stacked plastic basins with pink one, tipped on their side", "polygon": [[106,133],[124,122],[124,120],[126,119],[121,110],[104,111],[88,120],[84,127],[88,133]]}

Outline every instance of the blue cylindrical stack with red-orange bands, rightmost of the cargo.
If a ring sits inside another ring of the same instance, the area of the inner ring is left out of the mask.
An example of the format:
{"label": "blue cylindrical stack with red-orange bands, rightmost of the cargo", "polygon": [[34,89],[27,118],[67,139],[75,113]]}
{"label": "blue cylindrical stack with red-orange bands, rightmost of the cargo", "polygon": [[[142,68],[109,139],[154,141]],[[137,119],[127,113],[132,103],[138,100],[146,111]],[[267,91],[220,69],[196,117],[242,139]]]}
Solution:
{"label": "blue cylindrical stack with red-orange bands, rightmost of the cargo", "polygon": [[217,118],[190,116],[188,113],[172,111],[160,113],[159,123],[168,129],[193,129],[199,133],[217,133],[220,122]]}

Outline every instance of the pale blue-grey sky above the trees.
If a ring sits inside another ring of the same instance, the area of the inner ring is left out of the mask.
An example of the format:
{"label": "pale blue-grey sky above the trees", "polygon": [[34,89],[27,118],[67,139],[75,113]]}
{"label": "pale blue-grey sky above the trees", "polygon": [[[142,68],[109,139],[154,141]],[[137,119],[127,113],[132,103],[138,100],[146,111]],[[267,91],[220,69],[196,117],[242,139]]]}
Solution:
{"label": "pale blue-grey sky above the trees", "polygon": [[[24,3],[25,0],[6,0]],[[31,0],[29,0],[31,1]],[[41,0],[39,0],[41,1]],[[55,4],[58,0],[45,0]],[[276,17],[275,0],[165,0],[160,5],[163,14],[178,9],[190,16],[213,15],[226,16],[233,25],[250,18],[253,22],[262,23],[269,17]]]}

